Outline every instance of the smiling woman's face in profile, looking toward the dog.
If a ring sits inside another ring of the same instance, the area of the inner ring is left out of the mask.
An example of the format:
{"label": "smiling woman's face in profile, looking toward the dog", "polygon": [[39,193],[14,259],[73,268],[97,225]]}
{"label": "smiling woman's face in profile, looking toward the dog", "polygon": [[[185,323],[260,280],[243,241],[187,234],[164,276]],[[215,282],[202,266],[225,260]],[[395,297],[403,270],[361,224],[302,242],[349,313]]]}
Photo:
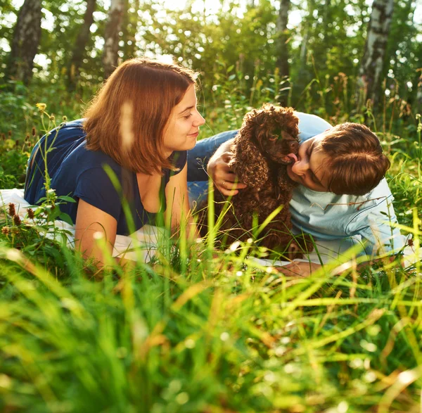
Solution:
{"label": "smiling woman's face in profile, looking toward the dog", "polygon": [[188,151],[196,144],[199,127],[205,119],[196,109],[196,93],[193,84],[188,87],[180,103],[174,106],[165,128],[163,145],[168,156],[173,151]]}

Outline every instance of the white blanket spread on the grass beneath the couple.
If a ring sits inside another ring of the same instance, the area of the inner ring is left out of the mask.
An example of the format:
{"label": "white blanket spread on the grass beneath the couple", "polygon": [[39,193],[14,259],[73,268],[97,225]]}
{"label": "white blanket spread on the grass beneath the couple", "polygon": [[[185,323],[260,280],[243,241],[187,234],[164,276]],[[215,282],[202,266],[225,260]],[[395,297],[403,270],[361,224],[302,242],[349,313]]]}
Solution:
{"label": "white blanket spread on the grass beneath the couple", "polygon": [[[3,208],[8,207],[9,203],[15,204],[15,210],[21,219],[24,219],[27,214],[27,208],[30,204],[23,198],[23,189],[1,189],[0,190],[0,206]],[[67,229],[70,231],[68,236],[68,246],[73,248],[75,227],[69,225],[63,221],[56,221],[56,227],[61,229]],[[125,258],[127,260],[142,260],[143,262],[149,262],[157,250],[158,238],[162,235],[162,231],[158,227],[151,225],[145,225],[139,231],[136,231],[131,236],[117,235],[115,246],[113,248],[113,257]],[[46,234],[49,236],[49,234]],[[350,259],[353,255],[350,253],[350,248],[354,247],[355,252],[359,250],[359,239],[352,237],[349,239],[335,240],[335,241],[318,241],[316,243],[316,250],[313,253],[307,255],[306,262],[316,263],[327,263],[336,262],[338,265],[343,264],[345,260]],[[416,260],[422,259],[422,248],[419,251],[415,251],[414,248],[407,246],[404,250],[404,261],[405,265],[412,265]],[[287,265],[288,261],[272,261],[272,260],[258,260],[255,261],[264,266],[268,265]]]}

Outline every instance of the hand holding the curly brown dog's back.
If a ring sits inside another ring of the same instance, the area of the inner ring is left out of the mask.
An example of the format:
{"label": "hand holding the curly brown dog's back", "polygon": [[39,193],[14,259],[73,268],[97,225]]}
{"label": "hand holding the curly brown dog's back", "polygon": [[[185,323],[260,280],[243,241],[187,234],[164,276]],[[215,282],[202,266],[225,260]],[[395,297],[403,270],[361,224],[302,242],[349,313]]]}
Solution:
{"label": "hand holding the curly brown dog's back", "polygon": [[207,165],[207,173],[224,196],[236,195],[238,189],[244,189],[247,186],[238,182],[236,174],[230,170],[229,162],[233,155],[231,144],[233,144],[233,139],[222,144],[212,155]]}

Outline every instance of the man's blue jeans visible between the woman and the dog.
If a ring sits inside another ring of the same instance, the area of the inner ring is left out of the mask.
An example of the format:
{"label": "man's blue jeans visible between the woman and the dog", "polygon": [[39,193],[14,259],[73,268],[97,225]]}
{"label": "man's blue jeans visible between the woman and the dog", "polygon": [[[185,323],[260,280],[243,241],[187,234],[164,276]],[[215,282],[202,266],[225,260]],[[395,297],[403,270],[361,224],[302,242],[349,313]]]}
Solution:
{"label": "man's blue jeans visible between the woman and the dog", "polygon": [[188,151],[188,195],[189,205],[203,201],[208,193],[207,165],[217,148],[229,139],[234,138],[237,130],[222,132],[210,138],[202,139]]}

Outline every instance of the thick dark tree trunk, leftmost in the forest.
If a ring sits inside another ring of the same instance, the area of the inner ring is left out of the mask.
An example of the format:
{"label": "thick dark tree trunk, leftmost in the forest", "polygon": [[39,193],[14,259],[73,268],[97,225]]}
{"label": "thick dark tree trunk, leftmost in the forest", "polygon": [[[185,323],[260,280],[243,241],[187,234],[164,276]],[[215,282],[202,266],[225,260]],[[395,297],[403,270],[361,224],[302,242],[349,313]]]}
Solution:
{"label": "thick dark tree trunk, leftmost in the forest", "polygon": [[6,77],[29,84],[41,39],[41,0],[25,0],[13,32]]}

